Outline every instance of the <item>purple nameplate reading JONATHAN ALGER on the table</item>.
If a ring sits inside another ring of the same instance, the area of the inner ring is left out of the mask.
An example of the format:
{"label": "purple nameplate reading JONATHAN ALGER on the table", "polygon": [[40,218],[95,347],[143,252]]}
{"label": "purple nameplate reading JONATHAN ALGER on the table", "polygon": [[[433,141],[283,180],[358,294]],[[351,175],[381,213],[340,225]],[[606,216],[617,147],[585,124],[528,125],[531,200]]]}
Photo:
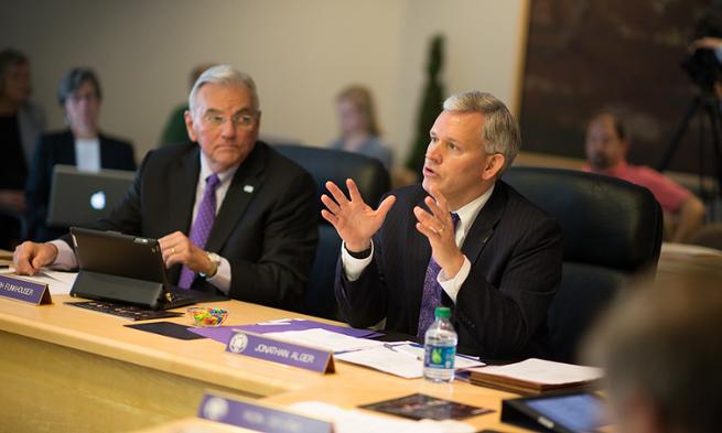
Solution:
{"label": "purple nameplate reading JONATHAN ALGER on the table", "polygon": [[321,374],[335,370],[331,351],[281,342],[243,329],[234,329],[234,336],[228,340],[226,351]]}

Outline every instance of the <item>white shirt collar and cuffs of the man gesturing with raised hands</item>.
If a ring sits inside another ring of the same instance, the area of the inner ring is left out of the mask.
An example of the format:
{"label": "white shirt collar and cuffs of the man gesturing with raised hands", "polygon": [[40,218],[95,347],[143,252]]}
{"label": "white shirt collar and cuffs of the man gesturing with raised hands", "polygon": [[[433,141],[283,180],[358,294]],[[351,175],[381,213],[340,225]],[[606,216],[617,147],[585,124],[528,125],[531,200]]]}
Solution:
{"label": "white shirt collar and cuffs of the man gesturing with raised hands", "polygon": [[[466,235],[468,235],[468,230],[474,224],[476,216],[482,210],[486,202],[488,202],[489,197],[492,196],[492,193],[494,193],[494,185],[492,185],[492,187],[488,188],[484,194],[474,198],[473,201],[465,204],[457,210],[452,210],[456,215],[459,215],[459,224],[456,225],[456,231],[454,232],[454,238],[455,238],[454,240],[456,241],[456,246],[460,249],[462,245],[464,245]],[[371,240],[371,253],[364,259],[356,259],[353,256],[351,256],[346,250],[345,243],[342,243],[341,246],[341,263],[344,273],[346,274],[346,279],[348,279],[348,281],[356,281],[360,277],[362,272],[364,272],[364,269],[366,269],[366,267],[371,262],[373,258],[374,258],[374,240]],[[464,256],[464,263],[462,264],[461,269],[459,270],[459,272],[456,272],[454,277],[452,278],[446,277],[446,274],[444,274],[443,269],[441,270],[441,272],[439,272],[439,277],[437,277],[437,281],[441,285],[441,289],[443,289],[443,291],[446,292],[449,297],[451,297],[451,300],[454,303],[456,303],[456,295],[459,294],[462,284],[464,284],[464,281],[466,281],[466,278],[468,278],[468,272],[471,270],[472,270],[472,263],[468,261],[468,258]]]}

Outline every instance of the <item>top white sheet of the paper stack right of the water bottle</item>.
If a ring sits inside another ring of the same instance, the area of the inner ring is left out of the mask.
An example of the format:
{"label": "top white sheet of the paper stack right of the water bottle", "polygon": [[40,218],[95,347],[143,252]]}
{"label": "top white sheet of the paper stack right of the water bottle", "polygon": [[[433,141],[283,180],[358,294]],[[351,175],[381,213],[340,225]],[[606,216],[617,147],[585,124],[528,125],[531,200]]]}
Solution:
{"label": "top white sheet of the paper stack right of the water bottle", "polygon": [[474,368],[488,375],[498,375],[528,382],[545,385],[564,385],[582,381],[592,381],[602,377],[602,369],[572,364],[554,362],[543,359],[529,358],[521,362],[507,366],[487,366]]}

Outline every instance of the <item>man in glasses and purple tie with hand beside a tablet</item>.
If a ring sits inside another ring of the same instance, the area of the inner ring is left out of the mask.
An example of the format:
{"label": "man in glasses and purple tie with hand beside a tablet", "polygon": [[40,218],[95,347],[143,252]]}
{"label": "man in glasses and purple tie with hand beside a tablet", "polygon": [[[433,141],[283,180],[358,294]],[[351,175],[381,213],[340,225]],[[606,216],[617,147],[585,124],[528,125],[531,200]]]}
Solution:
{"label": "man in glasses and purple tie with hand beside a tablet", "polygon": [[[123,203],[96,228],[158,238],[181,288],[293,307],[317,243],[311,176],[257,141],[260,110],[248,75],[212,67],[188,99],[193,142],[150,152]],[[65,240],[22,243],[18,271],[76,266]]]}

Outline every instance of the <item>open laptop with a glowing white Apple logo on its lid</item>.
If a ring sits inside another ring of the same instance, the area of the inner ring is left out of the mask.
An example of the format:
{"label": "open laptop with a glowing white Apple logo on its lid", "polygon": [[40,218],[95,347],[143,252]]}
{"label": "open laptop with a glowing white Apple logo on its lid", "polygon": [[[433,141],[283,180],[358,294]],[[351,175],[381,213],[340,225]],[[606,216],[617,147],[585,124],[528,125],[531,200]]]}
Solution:
{"label": "open laptop with a glowing white Apple logo on its lid", "polygon": [[55,165],[47,225],[87,226],[107,216],[126,196],[134,176],[122,170],[86,172],[74,165]]}

